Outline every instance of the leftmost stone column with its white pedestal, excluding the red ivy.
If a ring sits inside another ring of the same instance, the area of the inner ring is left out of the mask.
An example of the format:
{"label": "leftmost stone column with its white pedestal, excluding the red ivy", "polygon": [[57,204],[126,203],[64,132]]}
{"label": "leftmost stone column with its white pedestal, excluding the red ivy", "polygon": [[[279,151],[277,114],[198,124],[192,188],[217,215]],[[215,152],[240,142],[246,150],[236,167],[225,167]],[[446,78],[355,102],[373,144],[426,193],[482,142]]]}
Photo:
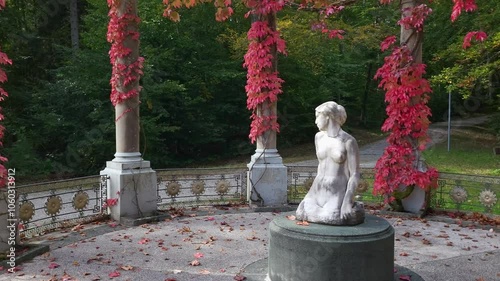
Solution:
{"label": "leftmost stone column with its white pedestal, excluding the red ivy", "polygon": [[[137,15],[137,0],[124,0],[117,10],[121,15],[123,13]],[[137,23],[128,22],[127,29],[137,30]],[[117,62],[124,65],[136,62],[139,57],[138,39],[129,35],[123,45],[131,52],[128,56],[117,59]],[[120,72],[116,73],[119,75]],[[113,74],[116,73],[114,69]],[[140,89],[138,77],[129,85],[123,84],[123,77],[118,81],[116,89],[120,93]],[[101,175],[107,175],[109,178],[107,205],[111,217],[116,221],[151,216],[157,210],[156,172],[151,169],[149,161],[142,159],[139,152],[139,104],[139,96],[136,95],[115,105],[115,158],[106,162],[106,168],[101,171]]]}

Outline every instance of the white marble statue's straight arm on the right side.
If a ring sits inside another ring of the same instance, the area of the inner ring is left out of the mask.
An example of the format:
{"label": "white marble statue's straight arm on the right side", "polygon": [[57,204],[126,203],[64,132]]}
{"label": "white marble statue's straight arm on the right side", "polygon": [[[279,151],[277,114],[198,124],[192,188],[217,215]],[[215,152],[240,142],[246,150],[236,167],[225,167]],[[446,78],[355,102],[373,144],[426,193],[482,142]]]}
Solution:
{"label": "white marble statue's straight arm on the right side", "polygon": [[354,138],[346,142],[347,150],[347,169],[349,170],[349,181],[347,182],[346,193],[340,209],[342,218],[347,218],[352,211],[354,192],[359,184],[359,148]]}

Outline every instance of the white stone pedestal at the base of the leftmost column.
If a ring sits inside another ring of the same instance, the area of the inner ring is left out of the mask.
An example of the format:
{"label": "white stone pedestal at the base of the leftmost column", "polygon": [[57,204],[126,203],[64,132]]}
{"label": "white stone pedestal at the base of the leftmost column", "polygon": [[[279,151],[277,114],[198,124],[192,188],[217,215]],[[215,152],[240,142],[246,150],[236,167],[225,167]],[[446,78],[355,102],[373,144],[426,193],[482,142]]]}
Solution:
{"label": "white stone pedestal at the base of the leftmost column", "polygon": [[156,172],[149,161],[144,161],[140,153],[116,153],[113,161],[106,162],[101,175],[107,175],[108,199],[118,199],[110,206],[111,218],[120,222],[121,218],[141,218],[156,214],[157,184]]}

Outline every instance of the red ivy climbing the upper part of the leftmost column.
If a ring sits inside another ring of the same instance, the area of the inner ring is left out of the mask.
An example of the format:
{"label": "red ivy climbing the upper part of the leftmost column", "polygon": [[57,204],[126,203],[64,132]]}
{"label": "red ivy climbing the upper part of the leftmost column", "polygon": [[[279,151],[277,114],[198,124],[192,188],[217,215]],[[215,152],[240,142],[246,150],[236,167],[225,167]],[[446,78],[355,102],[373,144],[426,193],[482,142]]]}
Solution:
{"label": "red ivy climbing the upper part of the leftmost column", "polygon": [[[120,11],[120,5],[125,5],[125,11]],[[140,22],[140,18],[131,12],[130,1],[108,0],[108,6],[110,20],[107,40],[111,43],[109,58],[112,65],[110,99],[115,106],[139,94],[140,87],[130,86],[138,83],[143,74],[144,58],[137,57],[131,61],[132,50],[126,46],[126,40],[139,40],[139,32],[129,29],[130,24]]]}

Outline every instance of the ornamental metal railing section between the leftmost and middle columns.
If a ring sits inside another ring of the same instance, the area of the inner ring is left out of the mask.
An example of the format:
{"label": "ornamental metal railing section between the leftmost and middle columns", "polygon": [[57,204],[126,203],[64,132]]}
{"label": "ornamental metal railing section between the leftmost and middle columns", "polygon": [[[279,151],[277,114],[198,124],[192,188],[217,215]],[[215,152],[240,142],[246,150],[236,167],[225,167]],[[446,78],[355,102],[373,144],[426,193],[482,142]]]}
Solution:
{"label": "ornamental metal railing section between the leftmost and middle columns", "polygon": [[156,173],[159,209],[246,201],[245,169],[164,169]]}

